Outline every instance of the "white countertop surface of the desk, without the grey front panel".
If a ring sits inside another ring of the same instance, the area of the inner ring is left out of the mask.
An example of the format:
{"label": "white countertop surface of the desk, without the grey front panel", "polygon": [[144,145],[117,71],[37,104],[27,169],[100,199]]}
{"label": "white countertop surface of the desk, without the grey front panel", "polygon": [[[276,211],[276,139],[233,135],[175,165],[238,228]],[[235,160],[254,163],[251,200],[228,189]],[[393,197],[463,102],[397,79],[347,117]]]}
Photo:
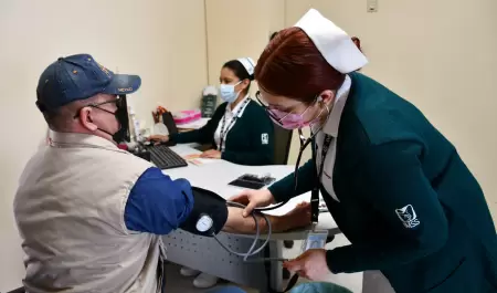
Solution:
{"label": "white countertop surface of the desk, without the grey front panel", "polygon": [[[171,147],[173,151],[180,156],[187,156],[192,154],[200,154],[194,149],[192,145],[178,145]],[[242,166],[232,164],[225,160],[215,159],[210,163],[197,166],[189,165],[188,167],[175,168],[163,170],[166,175],[169,175],[172,179],[186,178],[192,186],[204,188],[216,192],[221,197],[228,199],[237,195],[243,188],[230,186],[229,182],[233,181],[237,177],[244,174],[265,175],[271,174],[272,177],[279,180],[294,171],[295,166]],[[267,211],[268,214],[284,214],[296,207],[302,201],[310,201],[310,192],[293,198],[285,206]],[[332,233],[337,233],[338,227],[329,212],[319,213],[319,223],[317,228],[319,230],[330,230]],[[306,237],[306,230],[296,230],[285,233],[275,234],[272,238],[278,239],[304,239]]]}

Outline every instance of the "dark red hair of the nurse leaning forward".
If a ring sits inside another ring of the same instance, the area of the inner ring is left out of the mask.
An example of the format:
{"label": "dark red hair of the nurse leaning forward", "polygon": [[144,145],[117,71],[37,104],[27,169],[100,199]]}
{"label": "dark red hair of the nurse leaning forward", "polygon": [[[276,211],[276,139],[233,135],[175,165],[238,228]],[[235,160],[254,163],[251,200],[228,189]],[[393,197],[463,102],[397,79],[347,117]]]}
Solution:
{"label": "dark red hair of the nurse leaning forward", "polygon": [[258,86],[273,95],[311,103],[325,90],[338,90],[345,74],[335,70],[299,28],[281,31],[255,67]]}

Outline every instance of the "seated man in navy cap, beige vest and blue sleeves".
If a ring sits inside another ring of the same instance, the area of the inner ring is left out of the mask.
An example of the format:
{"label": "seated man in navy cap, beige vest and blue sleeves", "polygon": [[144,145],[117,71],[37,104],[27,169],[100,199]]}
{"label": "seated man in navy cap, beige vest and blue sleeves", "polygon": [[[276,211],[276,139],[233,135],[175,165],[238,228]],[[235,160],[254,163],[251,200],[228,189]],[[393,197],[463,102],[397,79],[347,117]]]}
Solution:
{"label": "seated man in navy cap, beige vest and blue sleeves", "polygon": [[[160,236],[191,223],[195,206],[208,201],[195,200],[187,180],[117,148],[128,132],[117,95],[140,83],[86,54],[60,57],[42,73],[36,105],[51,128],[49,146],[27,164],[14,200],[28,292],[163,291]],[[214,232],[254,232],[242,210],[218,207]],[[308,224],[308,213],[302,205],[269,219],[283,231]]]}

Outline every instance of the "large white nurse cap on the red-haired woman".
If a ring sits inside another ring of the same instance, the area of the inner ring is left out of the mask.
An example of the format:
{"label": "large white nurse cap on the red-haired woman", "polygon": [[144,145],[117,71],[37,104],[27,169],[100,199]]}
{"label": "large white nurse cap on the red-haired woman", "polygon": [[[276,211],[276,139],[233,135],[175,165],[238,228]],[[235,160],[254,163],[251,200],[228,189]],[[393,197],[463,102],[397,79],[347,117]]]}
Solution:
{"label": "large white nurse cap on the red-haired woman", "polygon": [[310,9],[295,27],[309,36],[328,64],[337,71],[347,74],[368,64],[350,36],[316,9]]}

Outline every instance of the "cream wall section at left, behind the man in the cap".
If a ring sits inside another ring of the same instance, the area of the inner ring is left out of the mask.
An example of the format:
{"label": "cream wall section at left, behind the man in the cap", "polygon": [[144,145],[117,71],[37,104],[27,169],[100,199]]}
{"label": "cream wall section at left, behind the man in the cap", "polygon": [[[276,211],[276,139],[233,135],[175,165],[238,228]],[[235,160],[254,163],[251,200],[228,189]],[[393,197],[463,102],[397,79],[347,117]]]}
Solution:
{"label": "cream wall section at left, behind the man in the cap", "polygon": [[0,291],[19,285],[22,251],[12,216],[19,175],[45,132],[35,87],[61,55],[91,53],[120,73],[141,75],[131,96],[150,126],[158,102],[199,105],[207,84],[203,1],[0,1]]}

